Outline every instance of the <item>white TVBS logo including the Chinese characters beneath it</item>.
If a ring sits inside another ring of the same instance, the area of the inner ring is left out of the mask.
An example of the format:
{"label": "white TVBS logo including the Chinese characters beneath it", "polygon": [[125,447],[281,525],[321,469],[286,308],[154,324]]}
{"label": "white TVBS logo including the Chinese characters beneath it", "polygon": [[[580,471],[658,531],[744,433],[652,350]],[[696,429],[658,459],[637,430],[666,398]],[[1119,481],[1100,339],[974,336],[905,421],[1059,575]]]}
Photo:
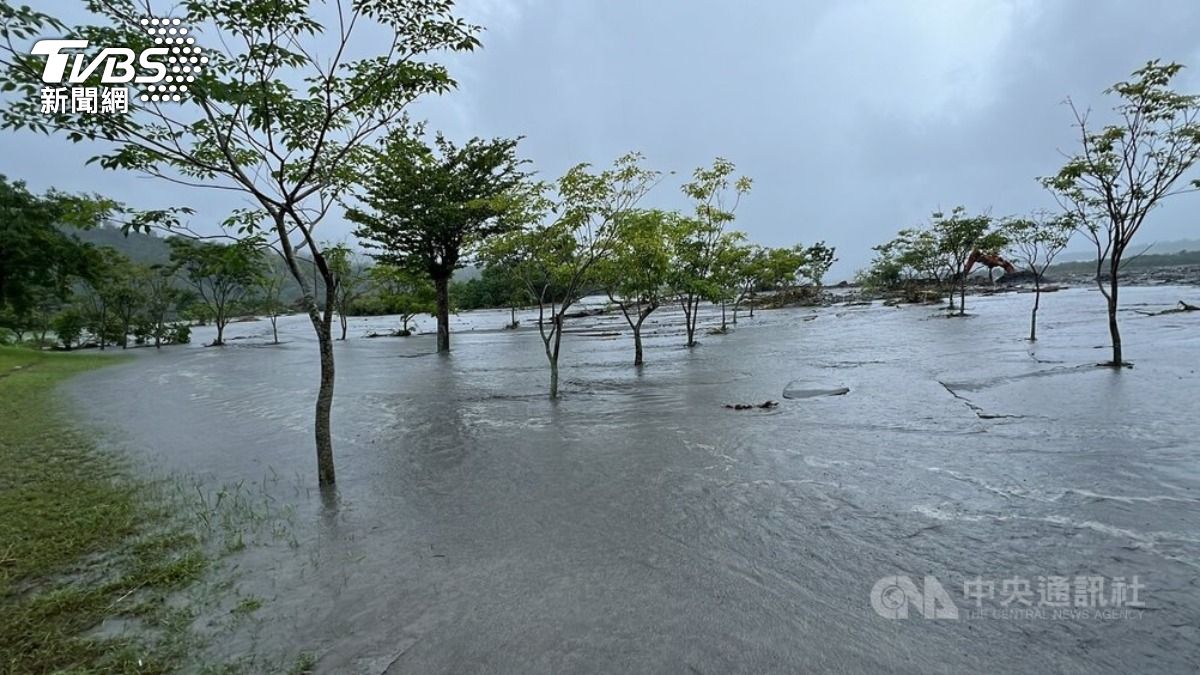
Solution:
{"label": "white TVBS logo including the Chinese characters beneath it", "polygon": [[[209,58],[180,25],[180,19],[145,17],[140,25],[154,37],[154,47],[137,52],[130,47],[103,47],[95,56],[82,53],[90,47],[86,40],[40,40],[31,54],[46,56],[42,68],[42,112],[126,112],[127,88],[108,85],[143,85],[138,98],[143,102],[180,102],[188,85],[196,82]],[[82,86],[89,80],[97,86]],[[65,86],[65,85],[71,85]],[[70,106],[68,106],[70,103]]]}

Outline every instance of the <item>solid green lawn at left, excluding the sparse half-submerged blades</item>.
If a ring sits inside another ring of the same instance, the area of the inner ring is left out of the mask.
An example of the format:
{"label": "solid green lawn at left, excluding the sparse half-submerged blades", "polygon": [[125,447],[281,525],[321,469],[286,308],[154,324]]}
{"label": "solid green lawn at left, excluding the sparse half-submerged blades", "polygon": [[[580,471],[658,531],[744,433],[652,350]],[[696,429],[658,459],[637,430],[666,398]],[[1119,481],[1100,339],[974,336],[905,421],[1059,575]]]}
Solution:
{"label": "solid green lawn at left, excluding the sparse half-submerged blades", "polygon": [[[169,673],[208,568],[152,484],[73,430],[55,387],[113,358],[0,347],[0,673]],[[106,637],[106,620],[145,631]]]}

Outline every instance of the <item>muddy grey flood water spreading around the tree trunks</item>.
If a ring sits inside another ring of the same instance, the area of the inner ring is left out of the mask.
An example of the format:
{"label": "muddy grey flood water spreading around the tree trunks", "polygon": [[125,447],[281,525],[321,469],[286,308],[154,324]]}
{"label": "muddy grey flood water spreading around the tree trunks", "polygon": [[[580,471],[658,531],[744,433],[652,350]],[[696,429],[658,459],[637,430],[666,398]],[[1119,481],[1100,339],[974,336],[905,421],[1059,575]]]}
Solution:
{"label": "muddy grey flood water spreading around the tree trunks", "polygon": [[[664,311],[641,371],[620,319],[589,317],[568,323],[589,330],[564,339],[557,402],[536,331],[499,330],[506,311],[456,317],[446,357],[354,319],[324,500],[304,317],[280,346],[239,323],[226,348],[140,350],[72,393],[136,456],[294,504],[296,540],[238,561],[265,604],[220,653],[308,650],[328,673],[1195,673],[1200,312],[1135,310],[1198,293],[1122,292],[1120,372],[1093,366],[1108,331],[1084,288],[1043,298],[1032,347],[1028,294],[968,298],[961,319],[743,313],[690,351]],[[850,392],[784,399],[793,381]],[[888,575],[934,577],[958,619],[876,613]],[[1103,578],[1109,608],[1136,577],[1142,607],[998,613],[1021,607],[1002,580],[1037,609],[1054,577]],[[977,578],[995,584],[979,607]]]}

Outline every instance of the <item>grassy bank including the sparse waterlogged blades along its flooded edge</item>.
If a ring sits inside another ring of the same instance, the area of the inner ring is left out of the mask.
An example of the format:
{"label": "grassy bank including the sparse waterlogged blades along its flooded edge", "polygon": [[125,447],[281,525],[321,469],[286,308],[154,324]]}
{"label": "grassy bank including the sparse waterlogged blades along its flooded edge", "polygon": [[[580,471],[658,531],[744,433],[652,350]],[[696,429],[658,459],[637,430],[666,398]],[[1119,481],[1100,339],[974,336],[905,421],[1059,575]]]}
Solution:
{"label": "grassy bank including the sparse waterlogged blades along its flooded edge", "polygon": [[287,540],[287,514],[241,485],[138,477],[74,430],[55,387],[112,363],[0,347],[0,673],[264,671],[247,655],[197,663],[221,627],[196,626],[230,602],[234,617],[263,607],[214,568],[256,533]]}

